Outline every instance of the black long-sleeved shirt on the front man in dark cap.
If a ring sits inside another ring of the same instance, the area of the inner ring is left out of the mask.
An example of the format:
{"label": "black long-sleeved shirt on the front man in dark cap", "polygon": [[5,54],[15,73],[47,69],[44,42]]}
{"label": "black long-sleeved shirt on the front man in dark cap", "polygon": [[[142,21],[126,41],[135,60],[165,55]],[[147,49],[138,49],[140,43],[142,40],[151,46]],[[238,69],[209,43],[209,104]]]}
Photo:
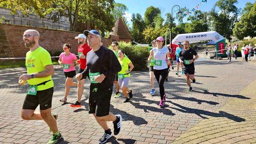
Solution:
{"label": "black long-sleeved shirt on the front man in dark cap", "polygon": [[97,88],[113,88],[113,76],[120,72],[122,67],[113,51],[101,46],[94,52],[91,50],[86,55],[86,69],[82,72],[82,77],[89,76],[89,72],[104,74],[106,77],[101,83],[91,83]]}

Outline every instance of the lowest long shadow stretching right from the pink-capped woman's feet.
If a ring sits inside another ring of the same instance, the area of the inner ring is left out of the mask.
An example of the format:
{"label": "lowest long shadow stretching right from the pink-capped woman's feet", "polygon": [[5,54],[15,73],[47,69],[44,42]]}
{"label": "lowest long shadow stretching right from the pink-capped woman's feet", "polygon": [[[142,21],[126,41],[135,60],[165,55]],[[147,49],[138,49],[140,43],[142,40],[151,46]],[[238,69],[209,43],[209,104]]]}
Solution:
{"label": "lowest long shadow stretching right from the pink-capped woman's feet", "polygon": [[[174,106],[179,107],[179,108],[172,107],[173,109],[176,109],[176,110],[178,110],[180,112],[183,112],[183,113],[194,113],[197,116],[199,116],[201,118],[204,118],[204,119],[209,119],[209,118],[203,117],[202,115],[207,115],[207,116],[211,116],[211,117],[227,117],[227,118],[229,118],[229,119],[231,119],[233,121],[236,121],[236,122],[246,121],[246,119],[244,119],[242,117],[238,117],[238,116],[229,114],[229,113],[224,112],[224,111],[219,111],[219,113],[214,113],[214,112],[210,112],[210,111],[206,111],[206,110],[201,110],[201,109],[196,109],[196,108],[183,107],[182,105],[179,105],[179,104],[171,102],[171,101],[170,101],[170,103],[173,104]],[[182,109],[180,109],[180,108],[182,108]]]}

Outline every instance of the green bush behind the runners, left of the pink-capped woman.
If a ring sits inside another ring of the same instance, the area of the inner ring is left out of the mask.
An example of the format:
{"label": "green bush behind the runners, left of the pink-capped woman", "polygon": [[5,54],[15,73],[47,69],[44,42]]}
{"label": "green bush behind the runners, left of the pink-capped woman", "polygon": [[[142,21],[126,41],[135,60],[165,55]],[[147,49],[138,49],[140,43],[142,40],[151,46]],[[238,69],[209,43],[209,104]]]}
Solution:
{"label": "green bush behind the runners, left of the pink-capped woman", "polygon": [[[112,49],[112,47],[109,47]],[[134,65],[134,71],[147,69],[147,58],[149,56],[147,47],[132,45],[131,43],[119,42],[119,49],[123,50]]]}

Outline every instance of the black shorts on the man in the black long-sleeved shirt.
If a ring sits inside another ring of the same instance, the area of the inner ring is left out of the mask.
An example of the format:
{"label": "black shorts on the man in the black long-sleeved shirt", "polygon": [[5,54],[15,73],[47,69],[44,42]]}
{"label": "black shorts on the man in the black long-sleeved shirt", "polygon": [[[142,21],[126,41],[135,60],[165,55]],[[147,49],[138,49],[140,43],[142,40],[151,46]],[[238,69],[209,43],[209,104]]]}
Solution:
{"label": "black shorts on the man in the black long-sleeved shirt", "polygon": [[97,117],[109,115],[112,90],[90,86],[89,114],[95,114]]}

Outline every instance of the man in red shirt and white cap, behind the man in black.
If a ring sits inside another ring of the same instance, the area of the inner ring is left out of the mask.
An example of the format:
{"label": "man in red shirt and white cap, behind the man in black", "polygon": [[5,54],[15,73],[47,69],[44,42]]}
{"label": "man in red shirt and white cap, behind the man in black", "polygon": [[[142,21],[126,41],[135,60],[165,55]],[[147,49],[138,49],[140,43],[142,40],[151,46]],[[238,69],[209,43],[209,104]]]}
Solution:
{"label": "man in red shirt and white cap, behind the man in black", "polygon": [[[88,52],[91,51],[91,48],[88,46],[86,36],[84,34],[79,34],[78,36],[75,36],[75,39],[77,39],[77,42],[80,44],[77,48],[79,60],[76,61],[76,63],[80,64],[78,73],[81,73],[86,68],[86,55]],[[84,84],[85,78],[77,82],[78,83],[77,101],[72,105],[70,105],[71,107],[81,107],[81,98],[82,98],[83,84]]]}

